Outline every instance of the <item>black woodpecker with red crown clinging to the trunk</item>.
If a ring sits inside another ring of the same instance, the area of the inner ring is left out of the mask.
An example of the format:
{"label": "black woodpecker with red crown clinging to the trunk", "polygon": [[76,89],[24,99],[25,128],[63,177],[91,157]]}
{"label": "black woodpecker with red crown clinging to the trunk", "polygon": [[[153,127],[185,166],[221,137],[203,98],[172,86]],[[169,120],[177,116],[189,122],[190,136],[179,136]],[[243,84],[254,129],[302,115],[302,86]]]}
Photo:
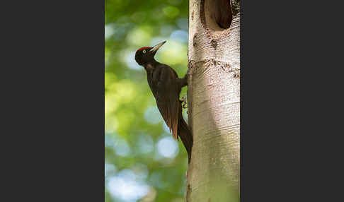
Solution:
{"label": "black woodpecker with red crown clinging to the trunk", "polygon": [[183,78],[178,78],[176,71],[171,66],[161,64],[154,59],[158,49],[165,43],[166,41],[156,44],[154,47],[137,49],[135,61],[146,70],[149,88],[154,95],[159,112],[170,132],[172,131],[173,138],[178,141],[179,137],[183,142],[190,163],[193,136],[188,124],[183,119],[182,101],[179,100],[181,89],[188,85],[188,73]]}

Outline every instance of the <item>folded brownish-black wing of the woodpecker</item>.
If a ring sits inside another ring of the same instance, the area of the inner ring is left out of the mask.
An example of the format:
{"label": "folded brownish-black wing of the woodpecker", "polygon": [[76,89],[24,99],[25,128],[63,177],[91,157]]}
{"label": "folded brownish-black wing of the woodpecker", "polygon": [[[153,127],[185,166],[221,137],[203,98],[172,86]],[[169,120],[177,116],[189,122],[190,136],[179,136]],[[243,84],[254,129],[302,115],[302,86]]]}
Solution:
{"label": "folded brownish-black wing of the woodpecker", "polygon": [[154,86],[156,105],[158,105],[161,116],[164,118],[173,138],[178,136],[178,114],[180,111],[180,101],[178,85],[176,83],[178,75],[170,66],[161,64],[156,67],[153,77],[156,81]]}

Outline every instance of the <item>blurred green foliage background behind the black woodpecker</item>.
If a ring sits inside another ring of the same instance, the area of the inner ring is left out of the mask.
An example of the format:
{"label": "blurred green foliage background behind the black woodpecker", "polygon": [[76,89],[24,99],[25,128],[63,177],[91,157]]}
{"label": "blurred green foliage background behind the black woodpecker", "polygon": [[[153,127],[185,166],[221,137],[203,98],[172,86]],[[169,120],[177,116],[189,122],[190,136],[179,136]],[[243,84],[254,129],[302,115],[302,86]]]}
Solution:
{"label": "blurred green foliage background behind the black woodpecker", "polygon": [[184,76],[188,1],[105,0],[105,201],[183,201],[185,148],[171,141],[134,61],[136,49],[163,40],[156,59]]}

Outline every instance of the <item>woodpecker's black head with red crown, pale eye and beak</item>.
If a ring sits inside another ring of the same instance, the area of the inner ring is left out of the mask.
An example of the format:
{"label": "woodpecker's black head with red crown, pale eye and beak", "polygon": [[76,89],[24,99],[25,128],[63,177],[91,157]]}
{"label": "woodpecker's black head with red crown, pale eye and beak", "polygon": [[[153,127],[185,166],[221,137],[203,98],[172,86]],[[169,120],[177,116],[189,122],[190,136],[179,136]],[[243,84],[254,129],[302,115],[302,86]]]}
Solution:
{"label": "woodpecker's black head with red crown, pale eye and beak", "polygon": [[154,47],[142,47],[137,49],[135,54],[137,64],[144,66],[144,64],[148,64],[150,61],[154,61],[156,52],[164,43],[166,43],[166,41],[156,44]]}

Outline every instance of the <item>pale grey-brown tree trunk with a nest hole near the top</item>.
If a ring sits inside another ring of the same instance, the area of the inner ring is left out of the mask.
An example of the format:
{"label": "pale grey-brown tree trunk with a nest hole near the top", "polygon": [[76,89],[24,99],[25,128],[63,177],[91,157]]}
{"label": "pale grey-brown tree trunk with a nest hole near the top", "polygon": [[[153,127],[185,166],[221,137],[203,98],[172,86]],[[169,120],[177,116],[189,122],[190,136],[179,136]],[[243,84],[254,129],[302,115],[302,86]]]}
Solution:
{"label": "pale grey-brown tree trunk with a nest hole near the top", "polygon": [[186,201],[239,201],[239,1],[189,2]]}

